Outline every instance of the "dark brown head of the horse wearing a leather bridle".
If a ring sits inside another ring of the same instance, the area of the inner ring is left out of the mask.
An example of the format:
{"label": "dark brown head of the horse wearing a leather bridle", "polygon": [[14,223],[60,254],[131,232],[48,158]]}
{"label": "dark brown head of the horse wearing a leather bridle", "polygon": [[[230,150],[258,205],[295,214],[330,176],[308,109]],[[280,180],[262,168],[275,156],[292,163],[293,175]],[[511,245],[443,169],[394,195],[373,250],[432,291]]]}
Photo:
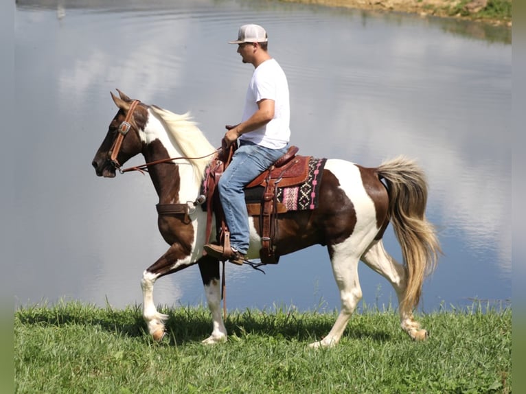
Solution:
{"label": "dark brown head of the horse wearing a leather bridle", "polygon": [[97,176],[105,178],[115,177],[115,171],[144,148],[139,131],[144,130],[148,119],[147,108],[138,100],[131,100],[119,89],[117,91],[119,97],[110,94],[119,111],[113,117],[106,137],[91,162]]}

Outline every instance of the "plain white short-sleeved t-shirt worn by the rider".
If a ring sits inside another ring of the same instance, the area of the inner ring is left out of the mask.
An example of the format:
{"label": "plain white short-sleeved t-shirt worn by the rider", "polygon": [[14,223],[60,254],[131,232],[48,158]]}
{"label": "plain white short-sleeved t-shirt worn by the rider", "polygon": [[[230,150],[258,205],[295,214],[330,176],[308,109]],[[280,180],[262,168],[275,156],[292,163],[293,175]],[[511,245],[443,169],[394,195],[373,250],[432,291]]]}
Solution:
{"label": "plain white short-sleeved t-shirt worn by the rider", "polygon": [[288,82],[282,67],[274,59],[262,62],[254,70],[247,89],[242,121],[258,111],[258,102],[263,99],[274,100],[273,119],[261,128],[244,133],[240,140],[251,141],[266,148],[283,148],[290,139]]}

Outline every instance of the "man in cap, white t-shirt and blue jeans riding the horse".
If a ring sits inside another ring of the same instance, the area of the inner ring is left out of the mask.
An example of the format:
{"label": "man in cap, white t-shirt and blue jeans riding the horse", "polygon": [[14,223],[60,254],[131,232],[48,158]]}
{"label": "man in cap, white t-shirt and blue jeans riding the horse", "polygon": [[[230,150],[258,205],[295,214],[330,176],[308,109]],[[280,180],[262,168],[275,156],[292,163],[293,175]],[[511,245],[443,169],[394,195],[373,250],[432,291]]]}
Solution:
{"label": "man in cap, white t-shirt and blue jeans riding the horse", "polygon": [[[285,73],[268,54],[263,27],[242,25],[238,39],[229,43],[238,45],[242,62],[254,66],[241,123],[226,126],[223,138],[227,147],[239,139],[239,148],[218,183],[233,252],[229,261],[241,265],[249,250],[250,235],[243,188],[288,150],[290,106]],[[222,259],[220,245],[207,244],[205,251]]]}

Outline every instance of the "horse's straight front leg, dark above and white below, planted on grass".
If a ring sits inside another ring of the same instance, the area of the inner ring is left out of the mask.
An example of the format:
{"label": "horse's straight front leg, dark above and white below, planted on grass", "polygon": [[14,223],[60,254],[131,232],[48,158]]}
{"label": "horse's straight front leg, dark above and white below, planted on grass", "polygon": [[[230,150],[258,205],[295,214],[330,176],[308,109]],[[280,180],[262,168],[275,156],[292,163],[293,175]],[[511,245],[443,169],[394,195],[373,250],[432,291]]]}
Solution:
{"label": "horse's straight front leg, dark above and white below, planted on grass", "polygon": [[203,343],[205,345],[214,345],[215,343],[225,342],[227,340],[227,329],[221,315],[219,262],[217,259],[205,256],[199,260],[198,265],[213,321],[212,333],[203,340]]}

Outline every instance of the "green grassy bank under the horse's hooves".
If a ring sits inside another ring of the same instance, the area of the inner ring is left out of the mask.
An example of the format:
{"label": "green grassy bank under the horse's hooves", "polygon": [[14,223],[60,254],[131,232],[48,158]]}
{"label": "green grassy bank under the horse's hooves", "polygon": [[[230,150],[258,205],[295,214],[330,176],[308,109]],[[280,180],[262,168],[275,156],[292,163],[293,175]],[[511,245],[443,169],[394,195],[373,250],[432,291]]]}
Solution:
{"label": "green grassy bank under the horse's hooves", "polygon": [[509,393],[511,308],[474,304],[418,316],[422,343],[394,310],[355,314],[341,343],[313,350],[335,313],[231,312],[229,341],[206,347],[202,307],[161,308],[154,343],[139,307],[29,306],[14,316],[17,393]]}

